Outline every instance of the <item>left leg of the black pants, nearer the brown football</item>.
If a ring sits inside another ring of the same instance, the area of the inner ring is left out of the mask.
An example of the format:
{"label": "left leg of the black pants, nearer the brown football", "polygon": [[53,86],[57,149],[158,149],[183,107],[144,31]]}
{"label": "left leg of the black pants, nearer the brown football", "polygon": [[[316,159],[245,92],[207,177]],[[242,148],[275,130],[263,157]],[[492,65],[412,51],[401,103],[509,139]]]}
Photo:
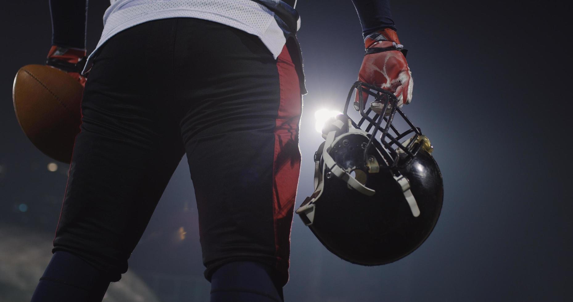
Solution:
{"label": "left leg of the black pants, nearer the brown football", "polygon": [[156,90],[169,84],[162,74],[172,68],[164,57],[174,28],[144,23],[111,38],[84,91],[54,250],[77,254],[113,279],[127,270],[184,152],[169,89]]}

